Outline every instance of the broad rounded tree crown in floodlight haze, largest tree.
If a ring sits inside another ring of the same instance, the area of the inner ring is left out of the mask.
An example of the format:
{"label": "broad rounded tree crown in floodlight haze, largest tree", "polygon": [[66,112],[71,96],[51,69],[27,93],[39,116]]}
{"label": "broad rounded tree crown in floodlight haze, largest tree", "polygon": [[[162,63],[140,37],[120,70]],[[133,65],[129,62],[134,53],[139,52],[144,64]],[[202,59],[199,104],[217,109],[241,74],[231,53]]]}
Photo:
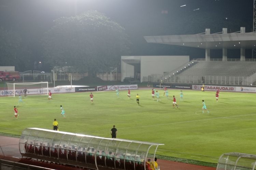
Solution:
{"label": "broad rounded tree crown in floodlight haze, largest tree", "polygon": [[45,33],[44,58],[49,65],[74,66],[77,71],[109,71],[129,54],[125,29],[97,11],[62,17]]}

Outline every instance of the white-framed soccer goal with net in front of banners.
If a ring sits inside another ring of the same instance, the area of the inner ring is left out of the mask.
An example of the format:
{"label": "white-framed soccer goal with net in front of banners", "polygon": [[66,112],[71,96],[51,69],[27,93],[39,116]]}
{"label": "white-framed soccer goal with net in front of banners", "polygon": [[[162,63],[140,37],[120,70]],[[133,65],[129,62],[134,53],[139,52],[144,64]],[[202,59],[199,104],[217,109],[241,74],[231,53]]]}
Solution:
{"label": "white-framed soccer goal with net in front of banners", "polygon": [[38,95],[47,94],[48,95],[48,82],[35,82],[35,83],[5,83],[5,93],[6,96],[16,95]]}

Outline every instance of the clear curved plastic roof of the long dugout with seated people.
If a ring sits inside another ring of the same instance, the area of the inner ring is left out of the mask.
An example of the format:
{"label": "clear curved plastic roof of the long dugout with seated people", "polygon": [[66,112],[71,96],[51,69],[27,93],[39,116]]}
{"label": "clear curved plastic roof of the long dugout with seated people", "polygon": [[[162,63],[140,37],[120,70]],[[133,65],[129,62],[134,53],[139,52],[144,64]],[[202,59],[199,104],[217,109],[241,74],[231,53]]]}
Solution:
{"label": "clear curved plastic roof of the long dugout with seated people", "polygon": [[[63,142],[68,142],[69,146],[71,143],[77,143],[78,145],[76,145],[76,149],[79,146],[83,146],[84,144],[87,146],[88,149],[90,147],[93,147],[95,149],[95,153],[99,150],[105,150],[103,148],[112,148],[112,151],[115,152],[115,155],[112,156],[113,158],[118,158],[117,155],[120,154],[124,154],[124,159],[126,160],[131,160],[131,155],[134,155],[134,158],[136,156],[143,156],[144,164],[146,162],[145,159],[147,158],[149,153],[152,156],[154,154],[155,157],[158,146],[164,145],[161,143],[143,142],[118,138],[104,138],[40,128],[26,128],[22,131],[22,135],[20,136],[19,140],[19,149],[22,155],[26,154],[23,151],[23,145],[25,143],[28,143],[29,145],[29,142],[33,143],[32,145],[39,145],[39,142],[47,142],[51,148],[59,147],[59,145]],[[89,150],[85,152],[89,152]]]}

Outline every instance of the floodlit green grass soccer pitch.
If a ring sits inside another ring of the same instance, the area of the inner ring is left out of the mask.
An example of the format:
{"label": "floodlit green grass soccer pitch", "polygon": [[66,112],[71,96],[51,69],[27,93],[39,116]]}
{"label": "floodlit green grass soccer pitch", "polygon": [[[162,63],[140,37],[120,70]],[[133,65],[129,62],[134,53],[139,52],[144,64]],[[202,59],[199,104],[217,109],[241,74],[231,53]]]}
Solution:
{"label": "floodlit green grass soccer pitch", "polygon": [[[111,137],[110,129],[116,125],[117,137],[130,140],[164,143],[158,155],[173,156],[217,163],[222,153],[242,152],[256,154],[256,94],[168,90],[176,96],[179,108],[172,107],[160,91],[160,102],[151,97],[151,89],[53,94],[48,101],[45,95],[31,95],[18,104],[18,96],[0,97],[0,132],[20,135],[25,128],[52,129],[54,118],[59,130]],[[140,105],[136,103],[136,94]],[[210,111],[202,113],[202,99]],[[13,106],[18,108],[15,119]],[[60,113],[66,111],[66,119]]]}

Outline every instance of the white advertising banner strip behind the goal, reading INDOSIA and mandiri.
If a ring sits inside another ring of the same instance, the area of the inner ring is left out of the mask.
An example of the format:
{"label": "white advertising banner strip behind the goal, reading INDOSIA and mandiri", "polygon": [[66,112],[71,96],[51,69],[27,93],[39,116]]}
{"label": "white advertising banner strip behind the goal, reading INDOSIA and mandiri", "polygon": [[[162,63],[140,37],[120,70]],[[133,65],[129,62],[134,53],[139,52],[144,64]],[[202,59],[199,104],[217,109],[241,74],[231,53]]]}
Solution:
{"label": "white advertising banner strip behind the goal, reading INDOSIA and mandiri", "polygon": [[[48,88],[51,92],[54,93],[68,93],[68,92],[75,92],[75,88],[72,87],[61,87],[61,88]],[[0,90],[0,96],[13,96],[13,90]],[[40,95],[40,94],[47,94],[46,88],[33,88],[27,89],[27,95]],[[15,95],[24,95],[24,89],[15,90]]]}

